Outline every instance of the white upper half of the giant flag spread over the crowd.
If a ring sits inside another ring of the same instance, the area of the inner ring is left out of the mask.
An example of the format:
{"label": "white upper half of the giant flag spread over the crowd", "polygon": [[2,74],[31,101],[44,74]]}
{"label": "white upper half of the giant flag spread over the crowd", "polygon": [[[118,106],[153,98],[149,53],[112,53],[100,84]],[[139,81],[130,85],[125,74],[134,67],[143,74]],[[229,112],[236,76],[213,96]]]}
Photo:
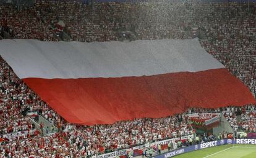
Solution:
{"label": "white upper half of the giant flag spread over the crowd", "polygon": [[0,54],[20,78],[150,76],[224,68],[198,39],[132,42],[1,40]]}

